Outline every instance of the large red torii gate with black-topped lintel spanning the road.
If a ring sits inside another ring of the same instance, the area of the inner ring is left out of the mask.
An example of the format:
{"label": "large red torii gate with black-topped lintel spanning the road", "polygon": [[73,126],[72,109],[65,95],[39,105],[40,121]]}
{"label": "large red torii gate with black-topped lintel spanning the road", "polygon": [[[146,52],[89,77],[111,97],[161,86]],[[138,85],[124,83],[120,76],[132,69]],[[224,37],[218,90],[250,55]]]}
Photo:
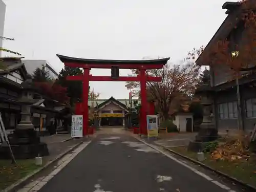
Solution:
{"label": "large red torii gate with black-topped lintel spanning the road", "polygon": [[[147,76],[145,71],[148,69],[161,69],[170,58],[153,59],[153,60],[103,60],[103,59],[82,59],[58,55],[57,57],[64,63],[65,66],[71,68],[83,68],[83,75],[68,76],[67,80],[82,81],[82,106],[83,106],[83,135],[88,135],[88,92],[89,81],[138,81],[140,82],[141,91],[141,110],[140,110],[140,134],[147,135],[146,128],[146,81],[159,82],[162,77]],[[118,69],[118,77],[109,76],[92,76],[90,70],[95,69]],[[119,69],[137,69],[139,75],[136,77],[120,77]]]}

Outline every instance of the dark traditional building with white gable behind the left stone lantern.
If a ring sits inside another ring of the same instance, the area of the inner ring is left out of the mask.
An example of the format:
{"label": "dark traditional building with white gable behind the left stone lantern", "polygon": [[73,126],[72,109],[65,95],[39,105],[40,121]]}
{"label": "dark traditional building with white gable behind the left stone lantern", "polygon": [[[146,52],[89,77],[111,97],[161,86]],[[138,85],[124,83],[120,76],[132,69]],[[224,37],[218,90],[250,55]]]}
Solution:
{"label": "dark traditional building with white gable behind the left stone lantern", "polygon": [[[5,129],[10,134],[20,121],[22,106],[19,103],[22,94],[22,82],[26,80],[27,70],[21,58],[0,58],[5,69],[0,69],[0,113]],[[43,95],[34,95],[35,103],[31,106],[31,117],[35,129],[44,132],[56,122],[56,126],[62,126],[66,115],[66,107]],[[68,113],[68,112],[67,112]]]}

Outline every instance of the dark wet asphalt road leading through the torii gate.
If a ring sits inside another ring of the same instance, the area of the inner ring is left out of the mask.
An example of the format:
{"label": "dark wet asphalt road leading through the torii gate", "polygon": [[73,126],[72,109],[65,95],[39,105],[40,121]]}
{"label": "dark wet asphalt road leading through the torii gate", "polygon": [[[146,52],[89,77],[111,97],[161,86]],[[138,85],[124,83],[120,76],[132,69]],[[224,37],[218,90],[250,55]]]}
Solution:
{"label": "dark wet asphalt road leading through the torii gate", "polygon": [[189,168],[127,135],[98,135],[40,192],[223,192]]}

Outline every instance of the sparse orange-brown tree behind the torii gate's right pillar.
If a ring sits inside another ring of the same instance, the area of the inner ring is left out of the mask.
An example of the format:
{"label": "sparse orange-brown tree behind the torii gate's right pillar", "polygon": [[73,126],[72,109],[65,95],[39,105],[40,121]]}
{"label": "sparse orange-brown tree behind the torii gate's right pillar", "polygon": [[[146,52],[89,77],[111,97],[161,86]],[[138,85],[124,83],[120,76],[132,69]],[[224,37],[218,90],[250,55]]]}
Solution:
{"label": "sparse orange-brown tree behind the torii gate's right pillar", "polygon": [[[170,63],[162,69],[148,70],[147,75],[161,76],[161,82],[146,82],[147,98],[157,103],[159,112],[162,112],[164,119],[180,108],[180,105],[193,95],[198,82],[199,67],[195,63],[187,65],[173,65]],[[133,70],[133,75],[137,75]],[[140,82],[126,82],[125,87],[131,89],[139,96]],[[184,108],[186,108],[184,104]]]}

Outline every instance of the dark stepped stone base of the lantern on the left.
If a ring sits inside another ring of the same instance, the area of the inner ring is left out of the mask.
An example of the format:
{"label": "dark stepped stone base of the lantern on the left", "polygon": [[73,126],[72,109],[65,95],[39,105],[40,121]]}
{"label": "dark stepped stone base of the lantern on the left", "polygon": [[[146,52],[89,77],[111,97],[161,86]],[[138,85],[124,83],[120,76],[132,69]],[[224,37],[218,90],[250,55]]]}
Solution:
{"label": "dark stepped stone base of the lantern on the left", "polygon": [[[42,156],[48,156],[48,146],[40,142],[40,137],[34,130],[15,130],[14,134],[9,136],[10,145],[15,159],[31,159]],[[0,158],[10,159],[10,150],[8,145],[0,146]]]}

